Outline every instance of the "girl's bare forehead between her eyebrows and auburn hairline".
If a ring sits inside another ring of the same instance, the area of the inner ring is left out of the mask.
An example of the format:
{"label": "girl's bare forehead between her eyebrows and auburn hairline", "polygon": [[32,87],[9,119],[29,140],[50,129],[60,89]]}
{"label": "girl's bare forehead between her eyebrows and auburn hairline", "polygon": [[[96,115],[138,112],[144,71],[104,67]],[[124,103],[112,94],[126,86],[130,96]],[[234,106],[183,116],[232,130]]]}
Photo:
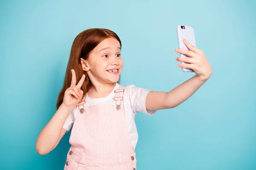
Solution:
{"label": "girl's bare forehead between her eyebrows and auburn hairline", "polygon": [[106,38],[102,42],[100,42],[94,49],[94,53],[99,53],[100,50],[104,48],[109,48],[111,50],[116,50],[117,48],[121,48],[120,43],[115,38]]}

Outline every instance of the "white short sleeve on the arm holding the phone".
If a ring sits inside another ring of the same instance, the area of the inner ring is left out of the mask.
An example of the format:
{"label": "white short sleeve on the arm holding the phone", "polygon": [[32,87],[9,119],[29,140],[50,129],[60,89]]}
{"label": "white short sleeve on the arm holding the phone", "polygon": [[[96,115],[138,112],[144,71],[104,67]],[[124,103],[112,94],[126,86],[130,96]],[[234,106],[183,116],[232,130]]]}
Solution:
{"label": "white short sleeve on the arm holding the phone", "polygon": [[128,85],[125,87],[125,94],[134,113],[141,112],[148,115],[154,114],[156,111],[149,111],[146,109],[146,96],[150,90],[139,88],[135,85]]}

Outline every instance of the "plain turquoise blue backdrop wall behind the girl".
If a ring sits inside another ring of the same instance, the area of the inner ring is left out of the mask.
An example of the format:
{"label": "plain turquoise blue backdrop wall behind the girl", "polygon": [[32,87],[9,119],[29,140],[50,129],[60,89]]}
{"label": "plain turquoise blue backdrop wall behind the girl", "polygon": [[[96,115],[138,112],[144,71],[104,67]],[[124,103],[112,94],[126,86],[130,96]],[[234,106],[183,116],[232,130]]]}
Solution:
{"label": "plain turquoise blue backdrop wall behind the girl", "polygon": [[195,29],[212,77],[176,108],[138,113],[137,169],[255,170],[255,8],[253,0],[1,0],[0,169],[63,169],[70,133],[44,156],[35,143],[56,111],[77,34],[115,31],[121,85],[171,91],[194,75],[175,61],[182,24]]}

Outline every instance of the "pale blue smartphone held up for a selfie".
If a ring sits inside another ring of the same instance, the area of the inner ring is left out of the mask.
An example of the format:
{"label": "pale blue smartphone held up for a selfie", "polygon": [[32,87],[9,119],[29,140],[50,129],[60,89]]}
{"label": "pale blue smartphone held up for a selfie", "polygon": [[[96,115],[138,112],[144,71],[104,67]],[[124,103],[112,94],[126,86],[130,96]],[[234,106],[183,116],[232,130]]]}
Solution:
{"label": "pale blue smartphone held up for a selfie", "polygon": [[[178,43],[179,48],[189,50],[187,46],[184,44],[183,39],[185,38],[191,45],[196,47],[195,44],[195,31],[194,28],[191,26],[184,26],[184,25],[178,25],[177,26],[177,36],[178,36]],[[189,57],[185,54],[180,54],[180,57]],[[181,62],[186,63],[186,62]],[[186,63],[187,64],[187,63]],[[189,68],[182,68],[184,72],[194,72],[192,69]]]}

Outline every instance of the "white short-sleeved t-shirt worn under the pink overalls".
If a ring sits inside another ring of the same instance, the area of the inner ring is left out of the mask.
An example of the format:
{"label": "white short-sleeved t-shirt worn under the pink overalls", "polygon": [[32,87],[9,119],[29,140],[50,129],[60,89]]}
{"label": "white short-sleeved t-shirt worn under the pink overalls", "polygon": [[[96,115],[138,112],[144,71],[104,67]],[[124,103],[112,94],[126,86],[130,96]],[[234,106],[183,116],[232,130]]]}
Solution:
{"label": "white short-sleeved t-shirt worn under the pink overalls", "polygon": [[[96,104],[115,104],[116,101],[113,100],[113,97],[115,96],[114,91],[119,87],[119,84],[116,83],[115,87],[113,88],[113,91],[111,93],[103,98],[90,98],[86,94],[84,107],[90,106],[90,105],[96,105]],[[148,115],[154,114],[156,111],[148,111],[146,109],[145,101],[146,96],[150,90],[145,88],[138,88],[135,85],[128,85],[125,87],[124,96],[123,96],[123,104],[124,104],[124,111],[125,111],[125,117],[128,125],[128,133],[131,139],[131,144],[133,149],[135,150],[136,144],[138,142],[138,132],[137,127],[135,125],[135,115],[137,112],[145,113]],[[72,127],[76,116],[79,113],[79,108],[75,107],[73,111],[70,113],[70,115],[67,117],[63,128],[67,131],[70,130]]]}

